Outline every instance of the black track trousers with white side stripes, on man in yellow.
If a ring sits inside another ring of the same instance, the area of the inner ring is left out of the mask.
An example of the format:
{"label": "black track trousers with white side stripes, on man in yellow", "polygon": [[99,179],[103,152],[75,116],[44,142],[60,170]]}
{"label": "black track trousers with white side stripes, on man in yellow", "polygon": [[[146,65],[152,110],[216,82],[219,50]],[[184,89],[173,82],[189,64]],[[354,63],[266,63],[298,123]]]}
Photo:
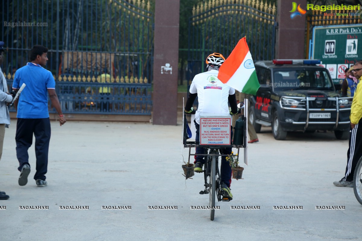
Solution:
{"label": "black track trousers with white side stripes, on man in yellow", "polygon": [[359,158],[362,156],[362,120],[351,129],[349,134],[349,148],[347,151],[346,174],[342,181],[353,181],[354,169],[356,168]]}

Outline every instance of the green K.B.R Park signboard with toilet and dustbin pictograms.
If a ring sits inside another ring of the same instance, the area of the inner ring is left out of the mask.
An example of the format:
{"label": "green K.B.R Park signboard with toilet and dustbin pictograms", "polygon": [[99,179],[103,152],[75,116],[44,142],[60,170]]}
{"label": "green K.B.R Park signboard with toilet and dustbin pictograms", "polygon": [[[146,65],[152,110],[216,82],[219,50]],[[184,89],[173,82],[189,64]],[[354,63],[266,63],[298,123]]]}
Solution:
{"label": "green K.B.R Park signboard with toilet and dustbin pictograms", "polygon": [[340,83],[344,70],[362,59],[362,25],[314,27],[311,58],[320,59],[333,82]]}

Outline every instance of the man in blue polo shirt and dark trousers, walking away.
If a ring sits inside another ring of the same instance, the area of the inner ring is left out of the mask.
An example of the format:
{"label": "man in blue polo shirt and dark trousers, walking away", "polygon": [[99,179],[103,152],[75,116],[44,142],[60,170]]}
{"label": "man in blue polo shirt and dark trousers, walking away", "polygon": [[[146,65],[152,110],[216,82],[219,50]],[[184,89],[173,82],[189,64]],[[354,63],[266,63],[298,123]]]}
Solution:
{"label": "man in blue polo shirt and dark trousers, walking away", "polygon": [[50,141],[50,120],[48,111],[48,94],[52,105],[59,114],[59,123],[66,122],[62,108],[55,92],[55,80],[50,71],[44,69],[48,49],[35,45],[30,51],[30,63],[18,69],[14,76],[13,90],[25,83],[18,102],[15,103],[18,118],[16,124],[16,156],[19,161],[19,185],[28,183],[30,173],[28,149],[35,136],[36,172],[34,175],[38,187],[47,185],[45,174],[48,167]]}

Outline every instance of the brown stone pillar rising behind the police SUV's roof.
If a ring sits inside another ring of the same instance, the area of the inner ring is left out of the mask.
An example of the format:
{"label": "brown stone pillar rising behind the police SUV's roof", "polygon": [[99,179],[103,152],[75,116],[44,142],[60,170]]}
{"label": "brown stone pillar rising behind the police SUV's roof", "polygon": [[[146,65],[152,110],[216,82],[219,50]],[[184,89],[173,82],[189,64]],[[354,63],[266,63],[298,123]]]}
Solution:
{"label": "brown stone pillar rising behind the police SUV's roof", "polygon": [[[304,59],[306,38],[306,14],[290,18],[292,2],[295,0],[277,1],[277,23],[275,35],[276,59]],[[307,10],[307,0],[295,1]],[[307,43],[309,44],[309,43]]]}

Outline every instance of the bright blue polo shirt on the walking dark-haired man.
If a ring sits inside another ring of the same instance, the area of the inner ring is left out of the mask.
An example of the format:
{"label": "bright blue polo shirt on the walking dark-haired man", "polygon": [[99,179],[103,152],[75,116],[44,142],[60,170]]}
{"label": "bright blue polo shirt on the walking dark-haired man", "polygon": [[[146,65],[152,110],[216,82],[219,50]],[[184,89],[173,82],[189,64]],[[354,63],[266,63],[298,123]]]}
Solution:
{"label": "bright blue polo shirt on the walking dark-haired man", "polygon": [[55,81],[49,70],[40,65],[28,63],[16,70],[13,89],[25,83],[26,87],[19,96],[17,118],[48,118],[48,90],[55,89]]}

